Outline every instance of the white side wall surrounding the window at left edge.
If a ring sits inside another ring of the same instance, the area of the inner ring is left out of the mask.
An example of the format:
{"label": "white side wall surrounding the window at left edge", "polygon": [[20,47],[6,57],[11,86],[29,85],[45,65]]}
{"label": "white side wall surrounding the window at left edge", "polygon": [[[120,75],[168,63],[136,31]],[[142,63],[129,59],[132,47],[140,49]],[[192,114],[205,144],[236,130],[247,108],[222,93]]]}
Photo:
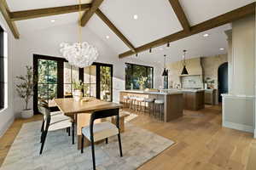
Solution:
{"label": "white side wall surrounding the window at left edge", "polygon": [[14,121],[14,107],[13,107],[13,76],[12,76],[12,60],[15,57],[15,38],[12,33],[9,31],[9,27],[7,26],[5,20],[3,19],[3,15],[0,14],[0,26],[3,27],[5,31],[8,33],[8,105],[7,108],[0,111],[0,137],[3,133],[8,129],[8,127]]}

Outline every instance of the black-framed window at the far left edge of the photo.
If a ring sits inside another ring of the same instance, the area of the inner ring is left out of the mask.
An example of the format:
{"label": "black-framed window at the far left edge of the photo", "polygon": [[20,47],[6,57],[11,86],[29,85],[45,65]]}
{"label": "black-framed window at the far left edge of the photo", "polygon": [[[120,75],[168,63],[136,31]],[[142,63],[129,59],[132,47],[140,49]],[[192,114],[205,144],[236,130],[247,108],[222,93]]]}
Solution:
{"label": "black-framed window at the far left edge of the photo", "polygon": [[7,105],[7,37],[0,26],[0,110]]}

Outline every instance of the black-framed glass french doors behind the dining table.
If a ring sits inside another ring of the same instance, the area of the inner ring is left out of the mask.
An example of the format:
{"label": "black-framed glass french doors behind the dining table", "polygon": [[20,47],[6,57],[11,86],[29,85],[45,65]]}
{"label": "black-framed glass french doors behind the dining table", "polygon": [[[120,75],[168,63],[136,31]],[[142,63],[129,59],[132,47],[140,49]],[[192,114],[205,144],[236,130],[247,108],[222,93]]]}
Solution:
{"label": "black-framed glass french doors behind the dining table", "polygon": [[78,81],[84,82],[84,97],[113,99],[113,65],[94,63],[81,69],[69,65],[65,59],[34,54],[33,67],[38,80],[34,86],[35,113],[38,113],[38,98],[50,103],[54,98],[70,97],[73,82]]}

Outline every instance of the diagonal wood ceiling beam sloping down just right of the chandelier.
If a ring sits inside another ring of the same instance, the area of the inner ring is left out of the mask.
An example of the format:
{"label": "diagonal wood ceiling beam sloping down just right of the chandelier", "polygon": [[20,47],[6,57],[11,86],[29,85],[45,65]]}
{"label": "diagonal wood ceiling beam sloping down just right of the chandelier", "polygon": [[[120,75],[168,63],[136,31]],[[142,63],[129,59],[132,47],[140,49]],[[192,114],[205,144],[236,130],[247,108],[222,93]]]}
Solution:
{"label": "diagonal wood ceiling beam sloping down just right of the chandelier", "polygon": [[102,13],[102,11],[98,8],[96,10],[96,14],[105,22],[105,24],[123,41],[125,42],[126,46],[131,49],[131,51],[135,52],[134,46],[131,42],[113,25],[113,23],[108,20],[108,17]]}

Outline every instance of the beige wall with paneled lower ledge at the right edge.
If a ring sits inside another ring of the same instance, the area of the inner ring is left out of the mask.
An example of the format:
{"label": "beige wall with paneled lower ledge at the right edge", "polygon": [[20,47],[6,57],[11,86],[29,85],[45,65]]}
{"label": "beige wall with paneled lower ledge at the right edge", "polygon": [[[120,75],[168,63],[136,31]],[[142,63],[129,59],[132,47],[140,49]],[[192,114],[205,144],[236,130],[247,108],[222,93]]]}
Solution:
{"label": "beige wall with paneled lower ledge at the right edge", "polygon": [[253,133],[255,113],[255,17],[232,23],[230,94],[223,99],[223,125]]}

